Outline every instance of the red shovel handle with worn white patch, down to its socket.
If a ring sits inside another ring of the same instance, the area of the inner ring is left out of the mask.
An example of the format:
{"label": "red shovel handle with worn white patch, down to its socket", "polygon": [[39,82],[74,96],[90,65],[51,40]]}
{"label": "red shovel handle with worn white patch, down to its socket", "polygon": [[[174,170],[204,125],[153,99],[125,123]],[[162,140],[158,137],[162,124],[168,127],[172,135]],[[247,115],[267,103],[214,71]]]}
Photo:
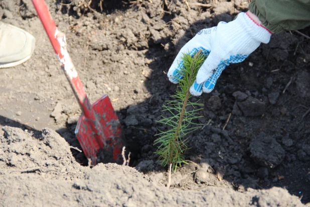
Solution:
{"label": "red shovel handle with worn white patch, down to its socket", "polygon": [[62,68],[66,74],[71,88],[78,99],[79,105],[84,116],[88,119],[89,125],[94,132],[94,137],[98,142],[100,148],[106,145],[106,138],[100,139],[99,136],[103,135],[102,126],[95,117],[91,108],[90,102],[83,89],[83,85],[77,71],[72,63],[72,60],[66,49],[65,35],[57,30],[56,24],[48,10],[44,0],[32,0],[33,5],[38,13],[38,16],[43,24],[43,27],[52,43],[52,46],[58,56],[59,61],[62,63]]}

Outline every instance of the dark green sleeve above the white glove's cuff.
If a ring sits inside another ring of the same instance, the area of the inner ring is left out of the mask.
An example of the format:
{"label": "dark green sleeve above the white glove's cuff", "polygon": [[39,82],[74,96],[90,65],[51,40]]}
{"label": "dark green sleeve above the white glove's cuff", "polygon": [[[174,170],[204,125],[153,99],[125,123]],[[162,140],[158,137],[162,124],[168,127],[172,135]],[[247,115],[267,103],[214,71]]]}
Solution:
{"label": "dark green sleeve above the white glove's cuff", "polygon": [[273,33],[310,25],[310,0],[252,0],[249,10]]}

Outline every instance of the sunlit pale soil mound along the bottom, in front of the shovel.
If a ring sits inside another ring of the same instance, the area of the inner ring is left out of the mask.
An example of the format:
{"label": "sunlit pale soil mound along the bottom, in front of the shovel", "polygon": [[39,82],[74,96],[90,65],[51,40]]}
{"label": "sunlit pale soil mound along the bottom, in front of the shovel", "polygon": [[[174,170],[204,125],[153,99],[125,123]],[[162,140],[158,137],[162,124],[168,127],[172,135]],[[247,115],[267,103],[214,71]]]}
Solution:
{"label": "sunlit pale soil mound along the bottom, in front of the shovel", "polygon": [[44,129],[42,139],[4,127],[0,144],[0,192],[4,206],[301,206],[281,188],[240,193],[209,186],[200,191],[168,189],[134,168],[74,160],[67,142]]}

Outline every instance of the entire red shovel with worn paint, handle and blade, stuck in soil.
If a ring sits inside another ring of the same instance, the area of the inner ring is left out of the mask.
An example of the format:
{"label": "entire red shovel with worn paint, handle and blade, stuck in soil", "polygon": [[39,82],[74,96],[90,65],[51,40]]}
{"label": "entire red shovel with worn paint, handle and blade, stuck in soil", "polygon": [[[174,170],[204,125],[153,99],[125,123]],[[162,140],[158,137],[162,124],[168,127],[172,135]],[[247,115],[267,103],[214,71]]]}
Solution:
{"label": "entire red shovel with worn paint, handle and blade, stuck in soil", "polygon": [[32,3],[82,110],[75,134],[86,157],[93,166],[99,162],[121,163],[121,149],[124,143],[121,139],[120,123],[109,97],[104,95],[90,105],[66,49],[65,34],[58,31],[44,0],[32,0]]}

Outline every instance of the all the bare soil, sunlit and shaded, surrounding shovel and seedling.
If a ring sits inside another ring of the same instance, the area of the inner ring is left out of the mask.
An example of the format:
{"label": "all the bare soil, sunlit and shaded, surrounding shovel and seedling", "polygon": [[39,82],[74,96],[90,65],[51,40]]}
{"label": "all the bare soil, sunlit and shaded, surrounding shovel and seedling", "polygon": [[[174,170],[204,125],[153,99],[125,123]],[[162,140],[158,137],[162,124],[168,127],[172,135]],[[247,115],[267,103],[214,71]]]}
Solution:
{"label": "all the bare soil, sunlit and shaded, surrounding shovel and seedling", "polygon": [[[309,40],[295,32],[273,35],[244,62],[228,66],[213,92],[192,98],[204,104],[198,120],[203,127],[189,137],[189,164],[172,175],[174,190],[169,194],[163,186],[167,168],[157,161],[153,146],[157,129],[166,129],[157,123],[161,106],[176,89],[166,73],[193,35],[233,20],[247,10],[248,1],[210,1],[214,7],[202,8],[195,3],[209,1],[193,0],[188,10],[179,0],[167,0],[168,7],[160,0],[105,0],[102,11],[99,0],[92,1],[90,9],[77,0],[46,2],[58,29],[66,33],[91,102],[109,95],[131,152],[131,166],[145,174],[117,165],[90,170],[78,164],[87,166],[84,154],[60,141],[63,137],[80,148],[74,130],[81,111],[70,85],[31,1],[3,0],[0,20],[36,37],[29,61],[0,70],[0,126],[6,126],[0,132],[4,205],[18,205],[20,200],[44,205],[51,199],[54,205],[83,206],[310,202]],[[301,32],[310,34],[309,28]],[[46,127],[52,130],[43,130]],[[49,144],[51,137],[57,137],[61,147]],[[21,193],[27,195],[22,198]]]}

